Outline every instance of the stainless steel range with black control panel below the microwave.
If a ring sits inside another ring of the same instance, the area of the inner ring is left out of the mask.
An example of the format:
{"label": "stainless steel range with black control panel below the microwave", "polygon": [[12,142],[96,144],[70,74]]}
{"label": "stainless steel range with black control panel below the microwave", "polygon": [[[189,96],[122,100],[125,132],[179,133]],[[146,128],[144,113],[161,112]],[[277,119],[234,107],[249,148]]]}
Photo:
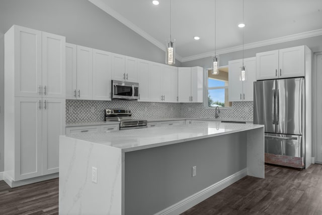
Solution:
{"label": "stainless steel range with black control panel below the microwave", "polygon": [[128,109],[105,109],[105,121],[119,121],[120,130],[147,127],[146,120],[133,119]]}

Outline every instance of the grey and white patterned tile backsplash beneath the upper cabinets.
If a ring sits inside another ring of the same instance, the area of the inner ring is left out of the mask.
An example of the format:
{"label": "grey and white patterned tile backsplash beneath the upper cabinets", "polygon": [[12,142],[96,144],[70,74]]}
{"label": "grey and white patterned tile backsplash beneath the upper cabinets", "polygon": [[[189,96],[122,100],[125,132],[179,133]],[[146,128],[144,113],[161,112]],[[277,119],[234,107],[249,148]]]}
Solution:
{"label": "grey and white patterned tile backsplash beneath the upper cabinets", "polygon": [[[137,101],[66,100],[66,123],[104,121],[107,108],[133,111],[133,118],[214,118],[215,111],[204,109],[202,103],[158,103]],[[221,109],[220,119],[253,120],[253,102],[233,102],[229,109]]]}

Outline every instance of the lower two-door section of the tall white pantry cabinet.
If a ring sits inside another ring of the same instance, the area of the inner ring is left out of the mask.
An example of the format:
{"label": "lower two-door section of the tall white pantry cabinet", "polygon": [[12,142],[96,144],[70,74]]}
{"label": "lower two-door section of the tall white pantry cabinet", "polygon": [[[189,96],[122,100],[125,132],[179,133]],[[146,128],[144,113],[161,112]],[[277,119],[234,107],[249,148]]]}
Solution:
{"label": "lower two-door section of the tall white pantry cabinet", "polygon": [[5,178],[57,173],[59,135],[65,134],[65,99],[16,97],[5,116]]}

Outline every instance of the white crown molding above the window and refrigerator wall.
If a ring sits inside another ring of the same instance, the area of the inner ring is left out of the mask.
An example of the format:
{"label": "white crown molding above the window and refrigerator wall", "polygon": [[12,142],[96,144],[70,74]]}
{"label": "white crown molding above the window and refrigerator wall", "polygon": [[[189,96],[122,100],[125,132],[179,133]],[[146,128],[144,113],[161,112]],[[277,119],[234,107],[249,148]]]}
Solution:
{"label": "white crown molding above the window and refrigerator wall", "polygon": [[[258,48],[258,47],[267,46],[267,45],[274,45],[277,43],[289,42],[289,41],[299,40],[299,39],[304,39],[304,38],[309,38],[309,37],[315,37],[315,36],[320,36],[320,35],[322,35],[322,29],[317,29],[317,30],[307,31],[307,32],[303,32],[303,33],[289,35],[289,36],[278,37],[278,38],[274,38],[274,39],[244,44],[244,50],[251,49],[251,48]],[[230,52],[234,52],[234,51],[241,51],[241,50],[243,50],[243,45],[238,45],[238,46],[233,46],[230,48],[216,50],[216,54],[226,54],[226,53],[230,53]],[[193,55],[193,56],[189,56],[189,57],[183,57],[181,62],[187,62],[187,61],[191,61],[191,60],[197,60],[197,59],[201,59],[201,58],[205,58],[205,57],[210,57],[210,56],[213,56],[214,54],[215,54],[215,52],[212,51],[212,52],[206,52],[206,53],[197,54],[197,55]]]}

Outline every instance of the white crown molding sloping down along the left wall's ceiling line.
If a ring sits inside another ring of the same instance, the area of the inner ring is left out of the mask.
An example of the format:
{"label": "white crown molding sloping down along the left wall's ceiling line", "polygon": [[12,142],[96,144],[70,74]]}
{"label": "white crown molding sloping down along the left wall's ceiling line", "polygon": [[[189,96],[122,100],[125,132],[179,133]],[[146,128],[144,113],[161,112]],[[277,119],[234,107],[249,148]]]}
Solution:
{"label": "white crown molding sloping down along the left wall's ceiling line", "polygon": [[[142,36],[146,40],[148,40],[150,43],[155,45],[156,47],[162,49],[163,51],[166,50],[166,45],[163,43],[160,43],[158,40],[154,39],[151,35],[134,25],[131,21],[114,11],[112,8],[108,7],[103,0],[88,0],[90,3],[93,5],[97,6],[107,14],[111,15],[114,17],[116,20],[124,24],[126,27],[131,29],[132,31],[136,32],[138,35]],[[178,59],[180,62],[182,61],[182,57],[176,53],[176,59]]]}

